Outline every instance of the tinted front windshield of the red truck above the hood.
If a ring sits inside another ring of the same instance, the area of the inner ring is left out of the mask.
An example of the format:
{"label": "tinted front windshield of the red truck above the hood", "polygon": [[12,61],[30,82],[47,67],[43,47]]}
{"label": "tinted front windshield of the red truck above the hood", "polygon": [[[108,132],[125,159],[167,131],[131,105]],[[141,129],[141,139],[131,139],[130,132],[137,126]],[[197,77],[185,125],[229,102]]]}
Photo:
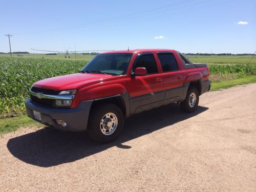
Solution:
{"label": "tinted front windshield of the red truck above the hood", "polygon": [[94,57],[81,72],[123,75],[132,58],[132,53],[109,53]]}

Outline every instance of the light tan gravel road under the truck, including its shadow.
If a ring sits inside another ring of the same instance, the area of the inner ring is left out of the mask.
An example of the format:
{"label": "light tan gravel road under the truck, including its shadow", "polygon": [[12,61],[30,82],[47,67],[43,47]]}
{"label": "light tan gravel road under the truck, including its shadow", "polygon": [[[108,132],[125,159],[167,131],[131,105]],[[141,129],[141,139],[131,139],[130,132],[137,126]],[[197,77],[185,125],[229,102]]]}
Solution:
{"label": "light tan gravel road under the truck, including its shadow", "polygon": [[113,143],[24,128],[0,136],[0,191],[256,191],[256,84],[134,115]]}

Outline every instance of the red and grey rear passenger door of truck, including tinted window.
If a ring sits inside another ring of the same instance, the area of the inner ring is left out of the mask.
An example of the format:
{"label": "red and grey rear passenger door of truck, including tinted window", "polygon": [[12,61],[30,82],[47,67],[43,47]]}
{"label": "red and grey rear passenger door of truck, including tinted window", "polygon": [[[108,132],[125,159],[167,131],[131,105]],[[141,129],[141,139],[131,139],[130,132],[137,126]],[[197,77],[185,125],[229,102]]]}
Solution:
{"label": "red and grey rear passenger door of truck, including tinted window", "polygon": [[164,104],[177,102],[184,94],[184,75],[172,52],[158,52],[159,62],[162,67],[161,77],[164,88]]}

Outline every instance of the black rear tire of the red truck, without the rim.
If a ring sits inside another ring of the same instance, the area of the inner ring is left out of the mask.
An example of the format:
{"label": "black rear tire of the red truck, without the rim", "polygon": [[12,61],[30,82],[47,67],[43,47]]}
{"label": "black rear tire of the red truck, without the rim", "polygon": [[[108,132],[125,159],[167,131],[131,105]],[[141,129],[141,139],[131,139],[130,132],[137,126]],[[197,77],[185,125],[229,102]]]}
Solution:
{"label": "black rear tire of the red truck, without the rim", "polygon": [[[196,103],[195,103],[194,106],[190,106],[189,98],[190,98],[190,95],[193,94],[193,93],[196,95]],[[198,107],[198,103],[199,103],[199,93],[198,93],[198,90],[195,87],[190,87],[187,90],[186,99],[184,101],[180,102],[180,108],[184,112],[192,113],[192,112],[196,111],[196,109]]]}

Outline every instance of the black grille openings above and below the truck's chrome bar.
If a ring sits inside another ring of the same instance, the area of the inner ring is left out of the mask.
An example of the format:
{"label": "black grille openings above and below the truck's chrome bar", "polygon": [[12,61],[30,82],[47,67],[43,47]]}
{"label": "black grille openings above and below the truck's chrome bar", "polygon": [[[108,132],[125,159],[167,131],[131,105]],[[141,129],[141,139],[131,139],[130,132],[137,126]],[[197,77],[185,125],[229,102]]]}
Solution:
{"label": "black grille openings above and below the truck's chrome bar", "polygon": [[[35,92],[35,93],[42,93],[42,94],[47,94],[47,95],[57,95],[58,92],[54,91],[54,90],[49,90],[49,89],[41,89],[41,88],[36,88],[36,87],[32,87],[31,91]],[[54,106],[54,99],[45,99],[45,98],[41,98],[39,99],[36,96],[30,95],[31,101],[42,105],[42,106]]]}

